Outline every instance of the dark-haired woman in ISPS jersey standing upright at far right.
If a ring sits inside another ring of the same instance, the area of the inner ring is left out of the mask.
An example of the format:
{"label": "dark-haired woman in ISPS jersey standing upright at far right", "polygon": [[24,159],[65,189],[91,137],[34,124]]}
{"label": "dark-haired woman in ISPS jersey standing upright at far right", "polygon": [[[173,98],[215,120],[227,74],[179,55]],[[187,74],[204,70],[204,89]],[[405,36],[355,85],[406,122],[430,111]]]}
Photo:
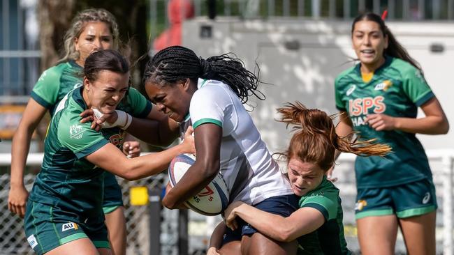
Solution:
{"label": "dark-haired woman in ISPS jersey standing upright at far right", "polygon": [[[415,134],[446,134],[448,120],[420,65],[379,15],[356,17],[351,39],[360,63],[335,80],[336,107],[342,113],[337,134],[354,130],[393,148],[386,157],[356,160],[361,252],[394,254],[400,226],[409,254],[435,254],[437,198]],[[422,118],[416,118],[418,107]]]}

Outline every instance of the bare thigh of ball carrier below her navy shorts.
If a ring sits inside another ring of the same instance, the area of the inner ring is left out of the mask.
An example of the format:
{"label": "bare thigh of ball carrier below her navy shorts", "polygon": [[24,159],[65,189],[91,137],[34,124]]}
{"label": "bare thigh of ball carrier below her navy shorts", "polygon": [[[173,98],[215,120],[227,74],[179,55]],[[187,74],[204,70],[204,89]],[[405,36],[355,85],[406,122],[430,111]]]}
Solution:
{"label": "bare thigh of ball carrier below her navy shorts", "polygon": [[288,255],[296,254],[298,242],[277,242],[261,233],[254,233],[251,236],[244,235],[241,241],[242,254],[261,255]]}

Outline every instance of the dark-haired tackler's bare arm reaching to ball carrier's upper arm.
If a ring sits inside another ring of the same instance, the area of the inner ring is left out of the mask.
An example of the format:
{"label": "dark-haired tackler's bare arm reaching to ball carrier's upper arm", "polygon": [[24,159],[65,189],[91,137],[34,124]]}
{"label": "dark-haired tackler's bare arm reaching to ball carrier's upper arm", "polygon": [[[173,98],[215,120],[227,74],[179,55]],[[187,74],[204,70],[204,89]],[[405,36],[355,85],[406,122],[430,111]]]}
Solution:
{"label": "dark-haired tackler's bare arm reaching to ball carrier's upper arm", "polygon": [[159,153],[152,153],[145,156],[128,158],[119,148],[113,144],[105,144],[94,153],[87,155],[87,160],[96,166],[114,173],[126,180],[137,180],[147,176],[152,176],[167,169],[173,157],[182,153],[196,153],[194,139],[191,135],[192,129],[189,128],[185,134],[182,144],[173,146]]}

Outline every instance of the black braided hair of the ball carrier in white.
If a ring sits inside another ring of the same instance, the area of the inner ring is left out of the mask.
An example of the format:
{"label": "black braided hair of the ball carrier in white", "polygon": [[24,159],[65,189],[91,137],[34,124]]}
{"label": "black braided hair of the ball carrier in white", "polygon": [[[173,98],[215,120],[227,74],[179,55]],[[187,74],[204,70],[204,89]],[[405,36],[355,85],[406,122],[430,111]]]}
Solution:
{"label": "black braided hair of the ball carrier in white", "polygon": [[265,95],[258,91],[258,84],[261,83],[258,74],[256,76],[244,68],[244,63],[235,55],[222,54],[202,59],[191,49],[182,46],[167,47],[156,53],[145,66],[142,83],[171,85],[186,78],[194,83],[197,83],[198,78],[224,82],[243,103],[251,95],[260,100],[265,99]]}

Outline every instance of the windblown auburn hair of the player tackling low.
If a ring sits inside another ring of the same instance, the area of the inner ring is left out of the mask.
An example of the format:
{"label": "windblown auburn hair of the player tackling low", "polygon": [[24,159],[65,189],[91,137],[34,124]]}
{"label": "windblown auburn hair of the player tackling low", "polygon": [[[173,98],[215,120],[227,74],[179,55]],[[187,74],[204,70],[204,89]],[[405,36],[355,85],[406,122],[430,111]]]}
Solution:
{"label": "windblown auburn hair of the player tackling low", "polygon": [[293,125],[295,132],[288,150],[282,153],[287,159],[295,157],[303,162],[312,162],[327,171],[334,164],[336,150],[360,156],[384,156],[391,151],[390,146],[374,144],[376,139],[353,139],[354,133],[339,137],[332,122],[338,114],[328,116],[325,111],[307,109],[298,101],[287,103],[277,111],[281,114],[280,121],[287,127]]}

